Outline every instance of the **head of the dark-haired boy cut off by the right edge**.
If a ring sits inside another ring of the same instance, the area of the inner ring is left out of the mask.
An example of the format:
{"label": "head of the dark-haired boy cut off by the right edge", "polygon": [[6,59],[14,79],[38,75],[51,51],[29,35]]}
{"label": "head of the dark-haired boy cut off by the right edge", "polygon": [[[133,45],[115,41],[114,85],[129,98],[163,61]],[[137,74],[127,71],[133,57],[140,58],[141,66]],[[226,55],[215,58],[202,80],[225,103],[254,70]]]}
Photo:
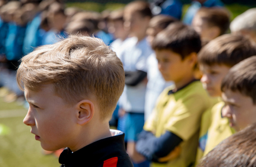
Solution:
{"label": "head of the dark-haired boy cut off by the right edge", "polygon": [[256,123],[256,56],[232,67],[221,84],[221,114],[236,131]]}

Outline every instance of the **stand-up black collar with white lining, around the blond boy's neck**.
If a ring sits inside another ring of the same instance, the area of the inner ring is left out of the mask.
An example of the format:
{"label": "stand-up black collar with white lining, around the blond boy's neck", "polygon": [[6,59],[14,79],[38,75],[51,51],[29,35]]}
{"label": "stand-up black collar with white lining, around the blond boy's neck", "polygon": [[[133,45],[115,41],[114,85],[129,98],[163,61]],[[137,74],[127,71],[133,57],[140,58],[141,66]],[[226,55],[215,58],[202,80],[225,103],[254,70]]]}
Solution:
{"label": "stand-up black collar with white lining, around the blond boy's neck", "polygon": [[94,166],[103,163],[103,161],[116,157],[127,155],[124,144],[125,134],[121,131],[110,130],[112,136],[95,141],[84,148],[72,152],[65,148],[60,154],[59,163],[66,166]]}

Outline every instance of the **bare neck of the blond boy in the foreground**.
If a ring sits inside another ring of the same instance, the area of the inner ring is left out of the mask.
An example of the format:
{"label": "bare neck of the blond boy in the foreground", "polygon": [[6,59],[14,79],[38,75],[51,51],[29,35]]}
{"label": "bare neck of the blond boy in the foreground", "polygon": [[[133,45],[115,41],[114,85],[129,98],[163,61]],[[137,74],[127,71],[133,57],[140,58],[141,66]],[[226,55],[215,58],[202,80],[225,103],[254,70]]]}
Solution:
{"label": "bare neck of the blond boy in the foreground", "polygon": [[80,135],[77,137],[76,144],[72,148],[69,148],[73,152],[78,151],[85,146],[94,143],[95,141],[111,136],[108,122],[106,124],[100,124],[99,126],[87,127],[87,129],[80,132]]}

